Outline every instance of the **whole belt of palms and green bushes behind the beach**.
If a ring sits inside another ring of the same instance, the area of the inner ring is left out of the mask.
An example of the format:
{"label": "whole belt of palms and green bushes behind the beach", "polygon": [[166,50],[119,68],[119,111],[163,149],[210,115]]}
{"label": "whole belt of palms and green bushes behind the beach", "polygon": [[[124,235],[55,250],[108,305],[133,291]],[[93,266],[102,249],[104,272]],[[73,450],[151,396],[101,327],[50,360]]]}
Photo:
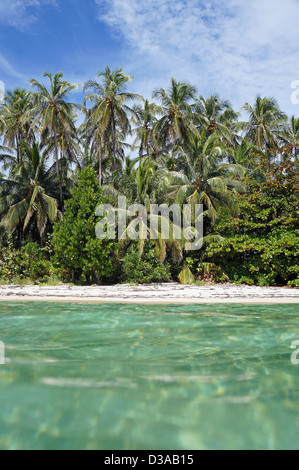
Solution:
{"label": "whole belt of palms and green bushes behind the beach", "polygon": [[[44,79],[0,105],[2,283],[299,286],[299,119],[257,97],[242,122],[228,101],[174,79],[150,102],[109,67],[82,104],[62,74]],[[161,234],[98,240],[96,207],[118,195],[203,204],[203,248]]]}

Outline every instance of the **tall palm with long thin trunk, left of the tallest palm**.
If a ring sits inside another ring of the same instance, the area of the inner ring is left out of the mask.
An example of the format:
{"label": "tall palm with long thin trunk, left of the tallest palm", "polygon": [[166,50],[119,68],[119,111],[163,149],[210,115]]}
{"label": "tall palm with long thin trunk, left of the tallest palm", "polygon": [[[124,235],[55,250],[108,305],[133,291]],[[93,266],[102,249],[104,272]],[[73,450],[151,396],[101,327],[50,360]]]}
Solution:
{"label": "tall palm with long thin trunk, left of the tallest palm", "polygon": [[71,85],[63,80],[62,73],[56,73],[54,77],[51,73],[45,73],[45,78],[50,81],[50,87],[39,83],[37,80],[31,80],[31,86],[37,91],[32,95],[32,108],[30,115],[34,116],[33,126],[38,126],[40,134],[48,131],[53,139],[54,156],[56,162],[56,174],[59,184],[59,198],[61,209],[63,210],[63,192],[60,162],[58,156],[58,134],[64,135],[68,140],[75,132],[74,109],[78,107],[70,103],[70,93],[77,88],[77,85]]}

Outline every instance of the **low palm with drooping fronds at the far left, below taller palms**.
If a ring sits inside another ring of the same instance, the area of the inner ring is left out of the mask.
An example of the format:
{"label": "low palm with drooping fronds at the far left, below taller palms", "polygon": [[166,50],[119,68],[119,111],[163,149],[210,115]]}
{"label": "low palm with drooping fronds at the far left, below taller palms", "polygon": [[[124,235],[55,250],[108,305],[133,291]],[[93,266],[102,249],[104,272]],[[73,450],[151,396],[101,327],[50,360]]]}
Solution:
{"label": "low palm with drooping fronds at the far left, below taller palms", "polygon": [[22,228],[25,232],[30,222],[36,223],[42,237],[48,222],[53,224],[58,216],[55,191],[55,171],[47,169],[46,152],[40,154],[38,144],[32,148],[22,144],[23,161],[15,162],[8,178],[1,179],[0,216],[11,232]]}

